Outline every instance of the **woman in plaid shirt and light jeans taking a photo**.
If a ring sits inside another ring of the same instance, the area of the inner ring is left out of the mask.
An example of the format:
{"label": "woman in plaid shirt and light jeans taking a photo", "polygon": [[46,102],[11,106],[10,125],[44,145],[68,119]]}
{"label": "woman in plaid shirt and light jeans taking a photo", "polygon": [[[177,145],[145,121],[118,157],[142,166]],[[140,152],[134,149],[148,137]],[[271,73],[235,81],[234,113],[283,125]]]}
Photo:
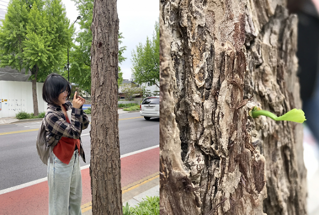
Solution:
{"label": "woman in plaid shirt and light jeans taking a photo", "polygon": [[[42,88],[42,97],[48,102],[44,118],[47,141],[59,139],[48,159],[49,215],[81,215],[82,180],[79,156],[85,162],[80,135],[89,125],[83,112],[85,99],[74,95],[67,100],[71,86],[58,74],[48,75]],[[54,138],[54,139],[52,139]]]}

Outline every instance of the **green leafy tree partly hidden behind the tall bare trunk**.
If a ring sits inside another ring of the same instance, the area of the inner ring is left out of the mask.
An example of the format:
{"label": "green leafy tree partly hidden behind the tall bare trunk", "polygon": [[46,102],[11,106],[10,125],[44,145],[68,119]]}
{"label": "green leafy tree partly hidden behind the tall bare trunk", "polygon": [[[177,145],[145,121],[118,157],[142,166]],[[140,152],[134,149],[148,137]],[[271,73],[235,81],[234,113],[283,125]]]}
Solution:
{"label": "green leafy tree partly hidden behind the tall bare trunk", "polygon": [[[75,39],[75,44],[70,50],[70,82],[77,83],[80,88],[86,92],[91,92],[91,45],[92,45],[92,17],[94,0],[74,0],[77,4],[79,15],[81,16],[78,23],[80,24],[80,33]],[[119,45],[124,38],[119,33]],[[125,61],[123,52],[126,46],[119,47],[118,62],[121,64]],[[123,81],[123,72],[118,68],[118,84]],[[91,93],[90,93],[91,94]]]}

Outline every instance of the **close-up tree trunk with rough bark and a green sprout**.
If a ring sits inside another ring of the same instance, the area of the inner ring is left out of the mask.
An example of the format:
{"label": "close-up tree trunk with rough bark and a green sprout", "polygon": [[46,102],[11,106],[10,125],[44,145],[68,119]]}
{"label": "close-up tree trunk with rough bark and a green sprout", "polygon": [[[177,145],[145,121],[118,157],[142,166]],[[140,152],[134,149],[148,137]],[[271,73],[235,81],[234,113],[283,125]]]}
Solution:
{"label": "close-up tree trunk with rough bark and a green sprout", "polygon": [[160,214],[305,215],[297,17],[284,0],[161,0]]}

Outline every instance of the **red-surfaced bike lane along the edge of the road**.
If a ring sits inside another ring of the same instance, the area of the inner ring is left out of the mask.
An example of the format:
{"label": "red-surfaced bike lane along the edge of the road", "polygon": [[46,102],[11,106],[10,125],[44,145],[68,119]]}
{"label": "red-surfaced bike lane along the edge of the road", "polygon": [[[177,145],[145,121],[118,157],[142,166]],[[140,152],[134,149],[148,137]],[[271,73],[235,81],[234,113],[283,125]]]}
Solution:
{"label": "red-surfaced bike lane along the edge of the road", "polygon": [[[89,168],[81,170],[82,205],[92,201]],[[159,147],[121,158],[121,185],[137,182],[159,172]],[[48,181],[0,195],[0,215],[48,214]]]}

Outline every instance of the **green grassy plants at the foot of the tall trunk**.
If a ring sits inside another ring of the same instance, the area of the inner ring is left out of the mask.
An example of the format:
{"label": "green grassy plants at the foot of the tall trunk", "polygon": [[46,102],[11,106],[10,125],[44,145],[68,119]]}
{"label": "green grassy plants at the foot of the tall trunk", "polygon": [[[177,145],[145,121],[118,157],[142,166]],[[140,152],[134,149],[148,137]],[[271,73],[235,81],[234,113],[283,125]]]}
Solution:
{"label": "green grassy plants at the foot of the tall trunk", "polygon": [[123,215],[159,215],[159,197],[146,197],[135,207],[123,206]]}

